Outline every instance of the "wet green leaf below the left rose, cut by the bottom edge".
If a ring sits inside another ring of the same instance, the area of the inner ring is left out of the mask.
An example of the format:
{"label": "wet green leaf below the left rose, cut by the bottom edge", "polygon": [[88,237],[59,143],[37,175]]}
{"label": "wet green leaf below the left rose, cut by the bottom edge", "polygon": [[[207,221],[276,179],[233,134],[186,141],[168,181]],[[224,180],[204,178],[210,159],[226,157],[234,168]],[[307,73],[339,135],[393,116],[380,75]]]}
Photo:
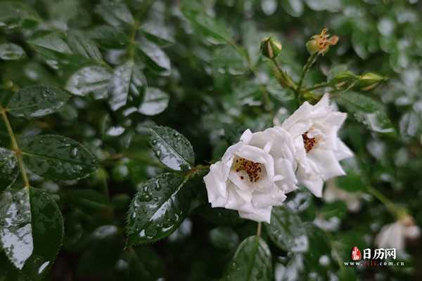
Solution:
{"label": "wet green leaf below the left rose, cut by the bottom edge", "polygon": [[271,251],[267,243],[258,236],[243,240],[222,280],[274,280]]}

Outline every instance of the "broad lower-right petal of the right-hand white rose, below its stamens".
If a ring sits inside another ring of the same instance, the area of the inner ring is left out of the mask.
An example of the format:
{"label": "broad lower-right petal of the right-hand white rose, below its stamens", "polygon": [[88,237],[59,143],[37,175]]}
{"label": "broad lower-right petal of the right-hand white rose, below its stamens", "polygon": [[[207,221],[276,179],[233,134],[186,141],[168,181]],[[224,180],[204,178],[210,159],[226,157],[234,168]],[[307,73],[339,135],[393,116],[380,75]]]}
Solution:
{"label": "broad lower-right petal of the right-hand white rose, below its stamens", "polygon": [[316,163],[319,174],[324,181],[328,180],[328,178],[333,178],[334,176],[345,175],[345,171],[343,171],[343,168],[340,166],[331,150],[320,150],[315,148],[308,152],[307,157]]}

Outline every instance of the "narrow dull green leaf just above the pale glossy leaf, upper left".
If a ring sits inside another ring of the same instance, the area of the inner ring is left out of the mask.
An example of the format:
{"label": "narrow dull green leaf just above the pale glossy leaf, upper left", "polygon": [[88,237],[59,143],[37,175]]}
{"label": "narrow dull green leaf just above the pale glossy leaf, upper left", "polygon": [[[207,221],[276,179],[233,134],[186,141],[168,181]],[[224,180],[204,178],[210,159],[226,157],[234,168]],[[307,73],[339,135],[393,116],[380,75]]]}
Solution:
{"label": "narrow dull green leaf just above the pale glossy leaf, upper left", "polygon": [[68,32],[68,44],[73,53],[78,53],[85,58],[97,61],[103,60],[103,55],[101,55],[95,42],[85,37],[82,32],[70,30]]}

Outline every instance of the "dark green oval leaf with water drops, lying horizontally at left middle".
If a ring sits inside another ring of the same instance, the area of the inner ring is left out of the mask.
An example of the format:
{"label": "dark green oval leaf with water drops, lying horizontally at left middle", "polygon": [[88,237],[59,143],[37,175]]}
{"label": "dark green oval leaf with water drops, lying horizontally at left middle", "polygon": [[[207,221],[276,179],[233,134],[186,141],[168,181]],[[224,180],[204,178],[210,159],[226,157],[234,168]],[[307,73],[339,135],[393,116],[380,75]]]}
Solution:
{"label": "dark green oval leaf with water drops, lying horizontally at left middle", "polygon": [[32,136],[24,139],[20,148],[27,168],[52,180],[84,178],[97,167],[87,148],[64,136]]}

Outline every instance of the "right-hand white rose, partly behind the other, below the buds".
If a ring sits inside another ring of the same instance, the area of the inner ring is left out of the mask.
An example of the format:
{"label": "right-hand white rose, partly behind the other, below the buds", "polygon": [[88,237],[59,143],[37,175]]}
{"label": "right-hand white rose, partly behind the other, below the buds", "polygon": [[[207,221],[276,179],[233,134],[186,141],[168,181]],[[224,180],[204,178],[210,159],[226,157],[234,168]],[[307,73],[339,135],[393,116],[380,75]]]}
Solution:
{"label": "right-hand white rose, partly behind the other, below the buds", "polygon": [[334,111],[329,101],[326,93],[316,105],[305,102],[281,124],[295,143],[298,181],[317,197],[324,181],[345,174],[339,161],[353,156],[337,136],[347,114]]}

